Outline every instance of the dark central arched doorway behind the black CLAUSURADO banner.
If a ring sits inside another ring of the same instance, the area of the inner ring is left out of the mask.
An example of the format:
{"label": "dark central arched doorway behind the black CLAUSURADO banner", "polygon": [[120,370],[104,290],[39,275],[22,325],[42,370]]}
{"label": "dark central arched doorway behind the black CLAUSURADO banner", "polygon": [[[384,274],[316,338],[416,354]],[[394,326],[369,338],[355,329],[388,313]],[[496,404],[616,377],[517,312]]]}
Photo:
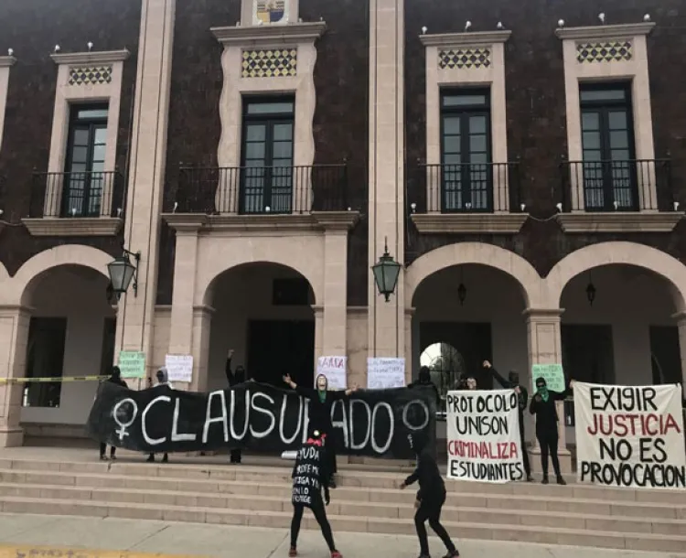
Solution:
{"label": "dark central arched doorway behind the black CLAUSURADO banner", "polygon": [[206,299],[215,310],[209,336],[209,389],[226,386],[225,361],[244,366],[248,377],[282,385],[313,385],[315,295],[294,269],[278,263],[246,263],[220,274]]}

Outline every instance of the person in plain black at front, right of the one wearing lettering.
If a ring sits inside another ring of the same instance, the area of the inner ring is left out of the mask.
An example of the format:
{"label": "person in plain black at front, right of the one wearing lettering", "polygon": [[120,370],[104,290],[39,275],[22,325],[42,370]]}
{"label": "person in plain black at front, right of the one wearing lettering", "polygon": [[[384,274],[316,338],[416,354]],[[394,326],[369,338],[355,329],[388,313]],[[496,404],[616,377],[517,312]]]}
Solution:
{"label": "person in plain black at front, right of the one wearing lettering", "polygon": [[429,554],[429,540],[426,534],[424,523],[429,521],[429,525],[445,544],[447,553],[444,558],[454,558],[459,556],[455,544],[450,539],[450,535],[441,525],[441,510],[445,504],[445,482],[441,477],[438,464],[429,451],[428,438],[422,432],[414,432],[408,436],[410,445],[417,455],[417,468],[413,474],[400,484],[401,490],[409,487],[414,482],[419,481],[419,490],[414,501],[414,526],[417,529],[419,538],[419,558],[431,558]]}

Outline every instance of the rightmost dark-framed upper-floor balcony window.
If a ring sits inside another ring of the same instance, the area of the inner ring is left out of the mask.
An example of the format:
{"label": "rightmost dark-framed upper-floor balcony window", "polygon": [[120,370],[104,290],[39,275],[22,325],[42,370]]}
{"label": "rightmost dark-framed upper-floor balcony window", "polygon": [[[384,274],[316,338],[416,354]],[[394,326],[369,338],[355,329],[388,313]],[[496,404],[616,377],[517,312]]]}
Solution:
{"label": "rightmost dark-framed upper-floor balcony window", "polygon": [[638,210],[629,85],[583,85],[579,98],[585,209]]}

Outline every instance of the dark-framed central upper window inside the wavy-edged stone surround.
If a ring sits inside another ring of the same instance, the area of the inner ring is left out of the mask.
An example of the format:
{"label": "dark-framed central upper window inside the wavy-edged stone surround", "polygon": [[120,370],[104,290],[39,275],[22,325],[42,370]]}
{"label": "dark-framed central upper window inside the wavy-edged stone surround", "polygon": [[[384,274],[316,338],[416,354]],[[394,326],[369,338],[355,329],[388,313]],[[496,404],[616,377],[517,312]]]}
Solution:
{"label": "dark-framed central upper window inside the wavy-edged stone surround", "polygon": [[293,201],[295,100],[245,98],[241,213],[290,213]]}

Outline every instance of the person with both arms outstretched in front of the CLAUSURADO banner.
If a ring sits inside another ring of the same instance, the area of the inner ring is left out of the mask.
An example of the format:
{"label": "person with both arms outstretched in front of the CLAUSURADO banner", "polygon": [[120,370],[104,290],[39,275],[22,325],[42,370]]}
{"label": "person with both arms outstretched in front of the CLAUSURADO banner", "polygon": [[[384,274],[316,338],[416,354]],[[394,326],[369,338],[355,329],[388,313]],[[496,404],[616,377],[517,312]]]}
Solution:
{"label": "person with both arms outstretched in front of the CLAUSURADO banner", "polygon": [[284,376],[284,382],[288,386],[309,400],[308,416],[310,421],[310,428],[319,431],[322,435],[328,436],[327,451],[325,456],[327,458],[327,471],[329,474],[328,486],[329,488],[336,488],[336,473],[338,467],[336,466],[336,448],[334,447],[333,439],[333,425],[331,424],[331,405],[333,402],[349,397],[351,393],[356,392],[358,387],[353,386],[348,390],[328,390],[328,380],[324,374],[319,374],[316,377],[316,388],[305,388],[299,386],[295,381],[291,380],[290,374]]}

